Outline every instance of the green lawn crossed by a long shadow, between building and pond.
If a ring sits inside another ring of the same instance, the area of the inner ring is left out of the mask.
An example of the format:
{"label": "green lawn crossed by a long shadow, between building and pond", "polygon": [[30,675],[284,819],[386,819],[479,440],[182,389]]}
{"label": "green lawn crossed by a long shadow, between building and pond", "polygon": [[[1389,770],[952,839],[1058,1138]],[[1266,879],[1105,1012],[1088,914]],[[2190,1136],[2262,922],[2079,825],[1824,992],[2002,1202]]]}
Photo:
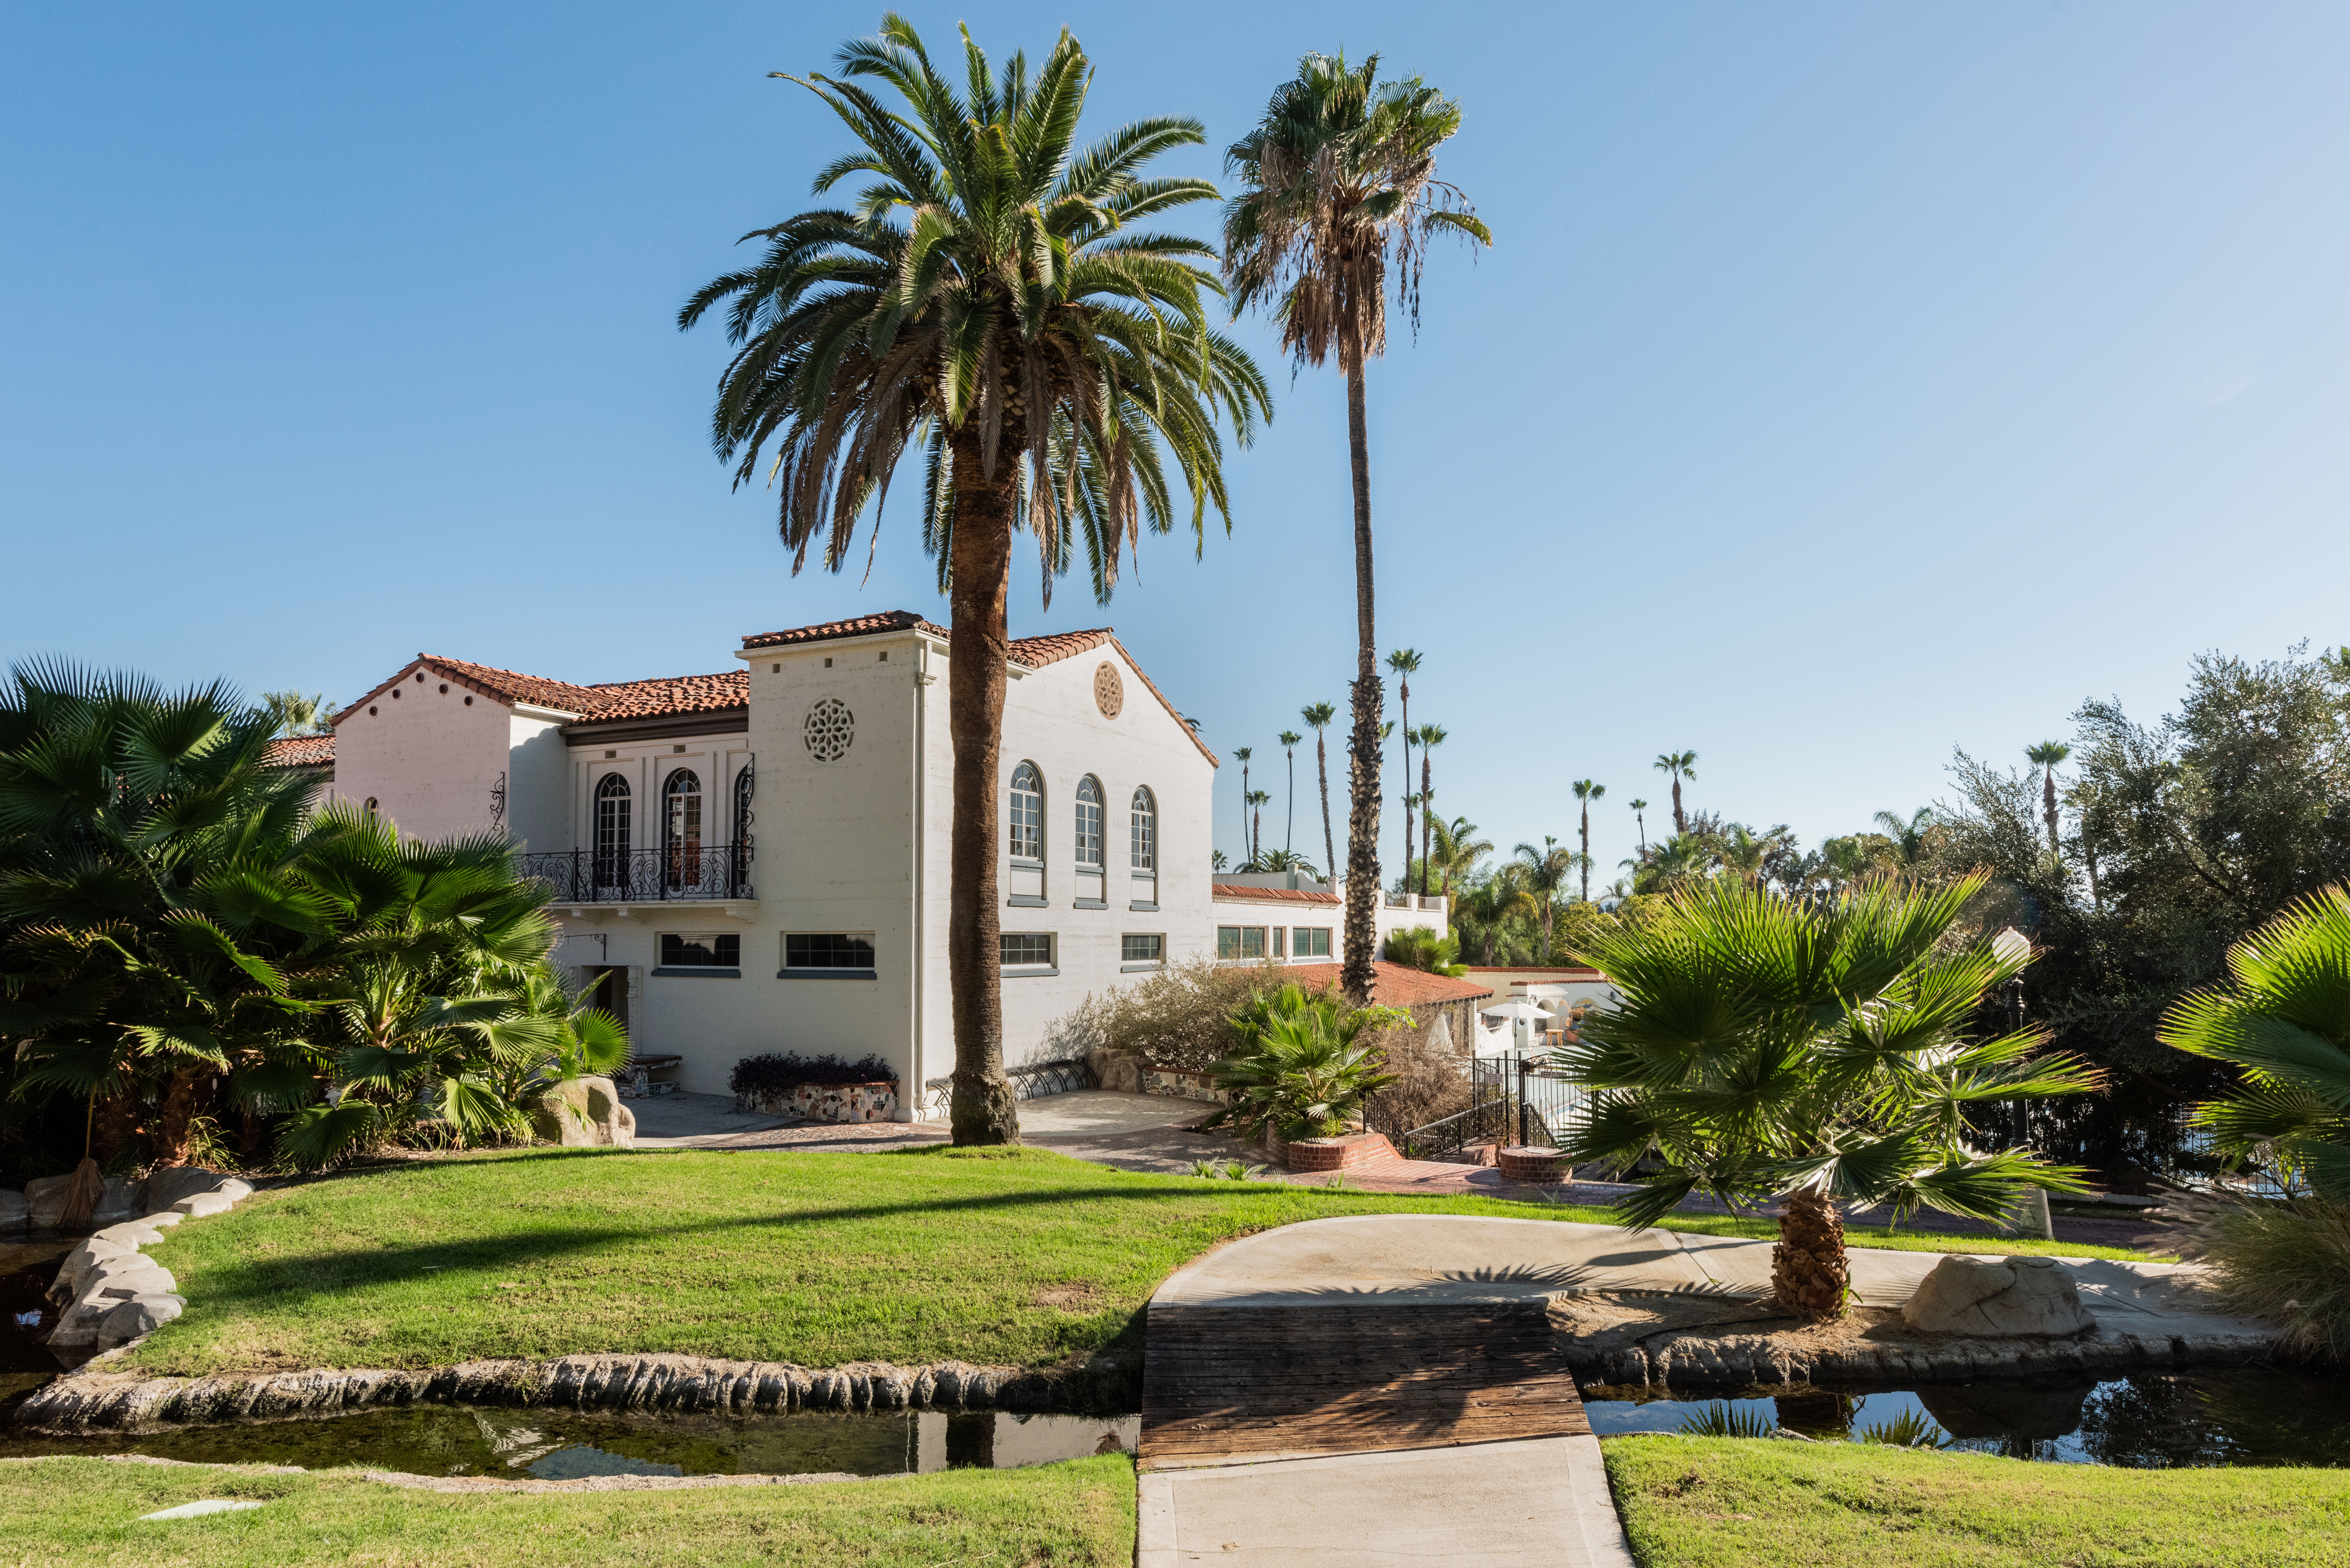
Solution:
{"label": "green lawn crossed by a long shadow, between building and pond", "polygon": [[[148,1251],[188,1312],[132,1366],[423,1368],[580,1352],[1041,1366],[1135,1342],[1152,1291],[1217,1241],[1358,1213],[1605,1218],[1137,1175],[1018,1147],[461,1154],[263,1192],[167,1232]],[[1713,1215],[1673,1225],[1770,1234]]]}

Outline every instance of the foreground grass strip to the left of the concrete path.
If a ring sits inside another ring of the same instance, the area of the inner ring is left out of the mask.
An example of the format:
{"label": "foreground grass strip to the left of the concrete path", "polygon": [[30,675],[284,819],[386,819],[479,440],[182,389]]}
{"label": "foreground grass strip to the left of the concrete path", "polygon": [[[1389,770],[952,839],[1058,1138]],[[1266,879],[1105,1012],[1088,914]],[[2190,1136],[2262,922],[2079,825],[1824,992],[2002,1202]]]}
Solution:
{"label": "foreground grass strip to the left of the concrete path", "polygon": [[[266,1507],[139,1521],[200,1497]],[[461,1495],[331,1469],[26,1460],[0,1462],[0,1568],[1126,1568],[1135,1472],[1126,1455],[1102,1455],[813,1486]]]}

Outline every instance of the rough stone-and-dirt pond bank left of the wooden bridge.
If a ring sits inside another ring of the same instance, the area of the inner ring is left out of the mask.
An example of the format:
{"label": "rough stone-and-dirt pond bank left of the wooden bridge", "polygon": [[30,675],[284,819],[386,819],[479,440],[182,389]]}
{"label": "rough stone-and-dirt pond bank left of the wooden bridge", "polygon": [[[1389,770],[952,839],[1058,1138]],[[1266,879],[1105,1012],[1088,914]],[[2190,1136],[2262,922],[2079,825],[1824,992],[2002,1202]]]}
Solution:
{"label": "rough stone-and-dirt pond bank left of the wooden bridge", "polygon": [[320,1368],[153,1378],[92,1361],[33,1389],[14,1425],[59,1436],[164,1432],[247,1420],[315,1420],[414,1403],[564,1406],[783,1415],[790,1410],[1130,1410],[1140,1368],[1121,1356],[1060,1366],[893,1366],[853,1361],[808,1368],[712,1356],[559,1356],[465,1361],[423,1371]]}

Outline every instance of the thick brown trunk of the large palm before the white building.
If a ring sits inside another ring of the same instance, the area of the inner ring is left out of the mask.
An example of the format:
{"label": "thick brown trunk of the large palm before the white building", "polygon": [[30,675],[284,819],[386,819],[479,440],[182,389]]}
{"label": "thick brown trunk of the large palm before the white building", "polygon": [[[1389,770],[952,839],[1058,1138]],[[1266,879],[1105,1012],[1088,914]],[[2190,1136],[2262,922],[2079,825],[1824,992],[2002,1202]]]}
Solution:
{"label": "thick brown trunk of the large palm before the white building", "polygon": [[[954,842],[947,884],[947,990],[954,1004],[954,1143],[1018,1143],[1003,1079],[1003,917],[996,898],[996,769],[1010,661],[1003,597],[1013,557],[1015,461],[980,477],[978,437],[954,444],[954,625],[947,733],[954,738]],[[919,1077],[919,1065],[916,1065]],[[909,1084],[919,1091],[919,1084]]]}

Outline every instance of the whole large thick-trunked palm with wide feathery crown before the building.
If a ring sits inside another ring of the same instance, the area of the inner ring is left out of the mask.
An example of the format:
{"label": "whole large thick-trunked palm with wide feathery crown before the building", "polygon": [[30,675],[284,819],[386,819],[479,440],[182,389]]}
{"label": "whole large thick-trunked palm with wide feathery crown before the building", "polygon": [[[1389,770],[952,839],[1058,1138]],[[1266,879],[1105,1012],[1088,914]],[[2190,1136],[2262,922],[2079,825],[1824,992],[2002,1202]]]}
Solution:
{"label": "whole large thick-trunked palm with wide feathery crown before the building", "polygon": [[1144,176],[1149,160],[1203,141],[1196,120],[1140,120],[1079,150],[1093,73],[1069,33],[1034,75],[1022,54],[992,73],[966,33],[961,92],[902,16],[837,59],[839,78],[790,80],[853,136],[815,190],[855,176],[865,188],[853,207],[747,235],[766,254],[707,282],[677,320],[693,327],[726,306],[736,355],[712,440],[738,484],[773,470],[794,571],[818,538],[839,571],[858,520],[879,520],[900,456],[924,454],[924,541],[954,621],[954,1140],[1010,1143],[996,795],[1013,534],[1036,536],[1046,595],[1081,536],[1107,599],[1140,527],[1175,529],[1170,463],[1194,541],[1206,541],[1208,505],[1229,527],[1217,418],[1248,442],[1271,397],[1248,355],[1210,331],[1206,301],[1220,289],[1196,261],[1215,252],[1149,230],[1217,195],[1208,181]]}

